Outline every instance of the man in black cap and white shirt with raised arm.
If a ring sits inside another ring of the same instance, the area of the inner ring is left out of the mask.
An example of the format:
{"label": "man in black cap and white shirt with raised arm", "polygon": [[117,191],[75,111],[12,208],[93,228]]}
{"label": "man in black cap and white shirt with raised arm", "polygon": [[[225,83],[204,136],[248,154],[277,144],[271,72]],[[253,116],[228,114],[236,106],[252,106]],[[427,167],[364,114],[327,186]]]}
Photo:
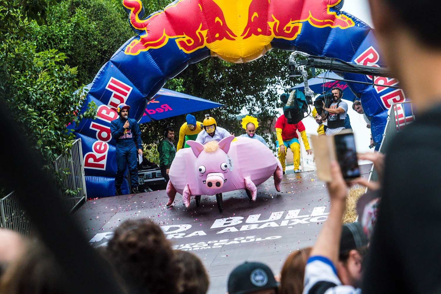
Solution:
{"label": "man in black cap and white shirt with raised arm", "polygon": [[360,294],[367,238],[360,226],[341,225],[348,186],[336,161],[330,170],[332,181],[327,188],[331,206],[306,263],[303,294]]}

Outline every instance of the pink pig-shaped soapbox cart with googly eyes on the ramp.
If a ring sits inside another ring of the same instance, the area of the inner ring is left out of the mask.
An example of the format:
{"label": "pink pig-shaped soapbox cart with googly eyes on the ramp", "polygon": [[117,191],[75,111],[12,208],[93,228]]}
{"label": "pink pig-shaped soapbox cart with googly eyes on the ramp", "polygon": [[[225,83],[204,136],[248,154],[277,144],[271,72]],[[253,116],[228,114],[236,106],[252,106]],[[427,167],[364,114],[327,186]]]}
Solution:
{"label": "pink pig-shaped soapbox cart with googly eyes on the ramp", "polygon": [[255,201],[256,186],[271,175],[276,190],[280,191],[282,167],[273,152],[258,140],[233,139],[234,136],[228,136],[205,145],[187,141],[191,148],[179,149],[168,172],[167,206],[172,205],[176,192],[182,194],[187,208],[191,196],[195,196],[196,206],[199,206],[201,195],[216,195],[221,212],[223,192],[245,189],[248,197]]}

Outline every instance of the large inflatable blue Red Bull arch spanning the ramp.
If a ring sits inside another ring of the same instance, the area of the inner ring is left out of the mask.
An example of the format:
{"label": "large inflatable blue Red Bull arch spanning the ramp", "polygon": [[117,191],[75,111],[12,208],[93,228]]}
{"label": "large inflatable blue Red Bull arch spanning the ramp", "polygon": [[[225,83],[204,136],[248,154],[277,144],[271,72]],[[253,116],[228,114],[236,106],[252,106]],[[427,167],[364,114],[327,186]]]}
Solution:
{"label": "large inflatable blue Red Bull arch spanning the ramp", "polygon": [[[141,119],[147,101],[189,64],[210,56],[232,63],[249,62],[271,48],[302,51],[370,66],[382,64],[372,28],[344,11],[344,0],[176,0],[149,16],[140,0],[123,0],[132,37],[101,67],[90,84],[86,104],[98,106],[97,119],[75,126],[82,139],[89,197],[114,195],[115,140],[110,122],[116,106],[131,106]],[[288,62],[288,61],[287,61]],[[373,82],[371,76],[344,78]],[[393,78],[374,77],[393,86]],[[381,141],[392,102],[405,100],[401,89],[348,83],[372,116],[374,141]],[[148,108],[149,106],[147,106]],[[153,106],[152,106],[153,107]],[[124,180],[123,192],[128,194]]]}

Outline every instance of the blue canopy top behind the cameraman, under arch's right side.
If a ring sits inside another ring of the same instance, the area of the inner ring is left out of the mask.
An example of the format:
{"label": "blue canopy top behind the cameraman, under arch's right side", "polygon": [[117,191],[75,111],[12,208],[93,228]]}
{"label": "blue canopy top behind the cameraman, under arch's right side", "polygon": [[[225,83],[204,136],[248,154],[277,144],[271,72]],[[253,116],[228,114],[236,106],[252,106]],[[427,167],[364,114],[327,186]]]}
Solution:
{"label": "blue canopy top behind the cameraman, under arch's right side", "polygon": [[[339,87],[343,90],[343,99],[354,101],[358,99],[349,89],[348,84],[342,81],[335,81],[333,78],[342,79],[338,74],[332,71],[326,71],[323,74],[319,74],[315,78],[310,78],[308,80],[308,86],[314,93],[321,94],[329,92],[334,87]],[[305,90],[305,83],[300,83],[297,86],[290,88],[290,90],[299,89],[301,91]]]}

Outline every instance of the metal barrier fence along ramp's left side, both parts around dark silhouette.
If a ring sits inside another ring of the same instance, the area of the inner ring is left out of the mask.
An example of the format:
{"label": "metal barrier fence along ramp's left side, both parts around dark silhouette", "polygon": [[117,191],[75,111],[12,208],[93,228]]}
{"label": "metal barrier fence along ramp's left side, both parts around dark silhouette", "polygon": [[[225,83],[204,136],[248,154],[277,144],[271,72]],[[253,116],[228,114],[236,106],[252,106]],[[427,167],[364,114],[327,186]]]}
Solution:
{"label": "metal barrier fence along ramp's left side, both parts around dark silhouette", "polygon": [[[71,212],[87,200],[82,158],[81,139],[77,139],[72,143],[72,147],[67,150],[67,153],[58,156],[54,163],[56,171],[67,172],[63,181],[64,187],[75,191],[73,194],[62,194],[63,200]],[[33,225],[15,197],[14,191],[0,199],[0,218],[0,226],[3,228],[26,236],[30,236],[33,232]]]}

